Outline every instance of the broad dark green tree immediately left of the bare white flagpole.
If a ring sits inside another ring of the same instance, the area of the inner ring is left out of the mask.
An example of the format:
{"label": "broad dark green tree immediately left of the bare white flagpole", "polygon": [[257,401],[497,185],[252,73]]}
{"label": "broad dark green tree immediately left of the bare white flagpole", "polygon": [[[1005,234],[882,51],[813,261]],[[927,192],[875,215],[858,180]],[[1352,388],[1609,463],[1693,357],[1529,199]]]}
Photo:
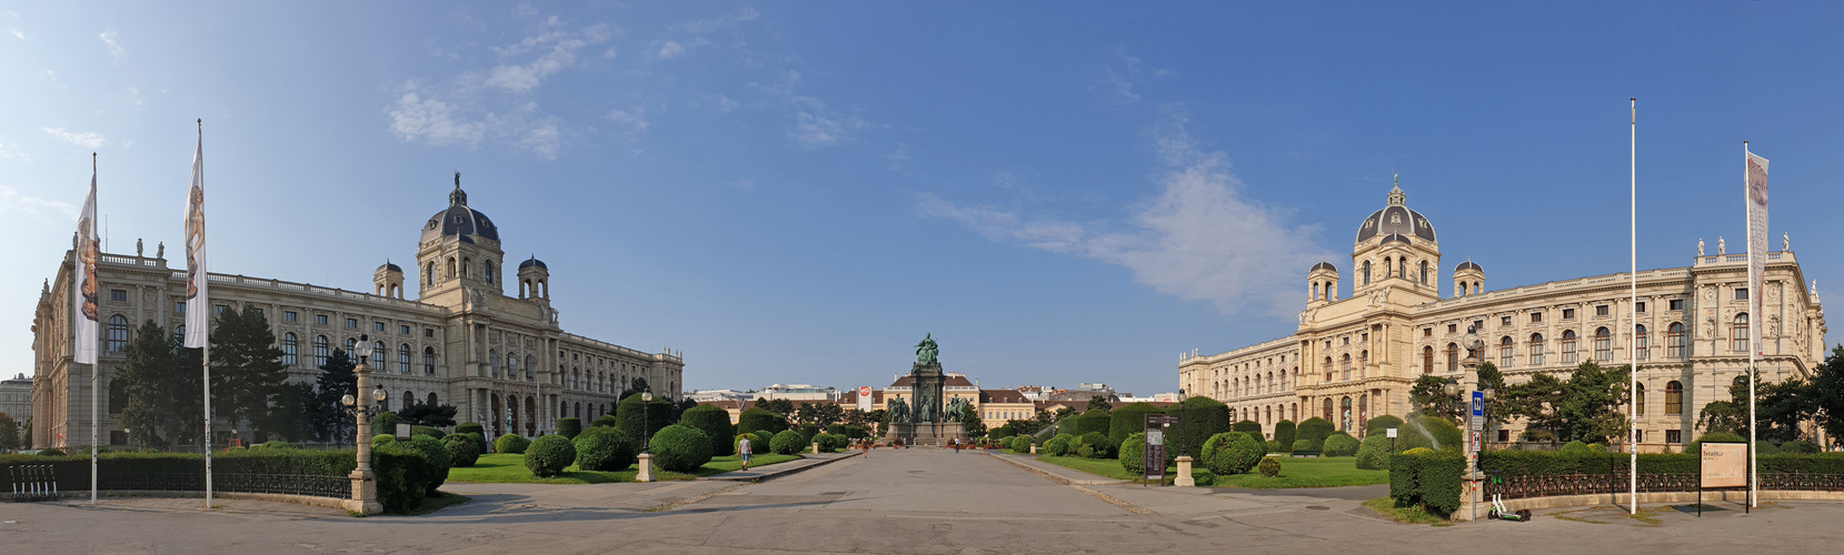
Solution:
{"label": "broad dark green tree immediately left of the bare white flagpole", "polygon": [[1608,443],[1626,435],[1628,367],[1602,369],[1595,361],[1575,367],[1569,380],[1534,374],[1531,382],[1499,389],[1507,415],[1525,417],[1531,431],[1554,441]]}

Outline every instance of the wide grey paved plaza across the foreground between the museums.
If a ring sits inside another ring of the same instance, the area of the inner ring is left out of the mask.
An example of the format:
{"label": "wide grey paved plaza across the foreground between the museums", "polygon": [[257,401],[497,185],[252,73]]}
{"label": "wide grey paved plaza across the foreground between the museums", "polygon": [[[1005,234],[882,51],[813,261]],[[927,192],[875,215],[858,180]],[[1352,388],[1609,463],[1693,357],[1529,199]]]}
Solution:
{"label": "wide grey paved plaza across the foreground between the museums", "polygon": [[[1001,459],[1011,457],[1011,461]],[[1034,470],[1033,470],[1034,468]],[[1543,511],[1534,522],[1411,525],[1359,503],[1387,487],[1324,490],[1071,483],[1029,457],[878,450],[762,483],[450,483],[470,503],[426,516],[197,500],[0,505],[6,553],[1306,553],[1833,551],[1838,502],[1779,502],[1704,518],[1649,507]]]}

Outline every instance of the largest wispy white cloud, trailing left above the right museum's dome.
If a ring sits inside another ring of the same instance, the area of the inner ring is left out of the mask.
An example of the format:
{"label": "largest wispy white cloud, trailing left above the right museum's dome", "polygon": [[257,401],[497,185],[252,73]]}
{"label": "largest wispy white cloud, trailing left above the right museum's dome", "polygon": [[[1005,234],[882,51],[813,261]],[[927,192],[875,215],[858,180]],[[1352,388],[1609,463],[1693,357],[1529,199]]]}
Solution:
{"label": "largest wispy white cloud, trailing left above the right museum's dome", "polygon": [[1291,313],[1298,280],[1324,256],[1313,227],[1289,227],[1287,210],[1250,201],[1221,151],[1200,151],[1173,116],[1152,142],[1162,159],[1160,194],[1119,225],[1033,218],[1022,210],[963,207],[924,194],[916,212],[953,219],[994,242],[1022,243],[1127,267],[1134,280],[1224,313]]}

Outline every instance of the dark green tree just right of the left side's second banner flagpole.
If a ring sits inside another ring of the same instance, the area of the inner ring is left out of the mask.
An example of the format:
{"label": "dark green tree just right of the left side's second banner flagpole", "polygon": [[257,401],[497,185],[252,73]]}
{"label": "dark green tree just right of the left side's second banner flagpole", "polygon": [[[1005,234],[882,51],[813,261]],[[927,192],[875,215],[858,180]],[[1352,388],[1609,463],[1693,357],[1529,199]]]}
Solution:
{"label": "dark green tree just right of the left side's second banner flagpole", "polygon": [[282,348],[275,347],[275,332],[260,310],[243,306],[242,312],[225,310],[218,315],[218,328],[212,330],[214,413],[232,426],[251,422],[273,428],[269,407],[282,393],[284,380],[288,365],[282,363]]}

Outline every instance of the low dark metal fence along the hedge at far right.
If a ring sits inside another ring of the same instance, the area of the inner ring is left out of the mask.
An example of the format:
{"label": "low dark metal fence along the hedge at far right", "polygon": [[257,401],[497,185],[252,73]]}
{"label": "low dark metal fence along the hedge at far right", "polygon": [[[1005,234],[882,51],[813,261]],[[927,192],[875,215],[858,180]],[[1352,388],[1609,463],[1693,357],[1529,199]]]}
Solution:
{"label": "low dark metal fence along the hedge at far right", "polygon": [[[1505,476],[1503,483],[1486,474],[1484,494],[1499,494],[1507,500],[1549,498],[1549,496],[1590,496],[1628,492],[1628,474],[1554,474],[1554,476]],[[1776,472],[1761,474],[1763,490],[1844,490],[1844,474],[1805,474]],[[1639,474],[1639,492],[1695,492],[1698,479],[1695,472],[1684,474]]]}

